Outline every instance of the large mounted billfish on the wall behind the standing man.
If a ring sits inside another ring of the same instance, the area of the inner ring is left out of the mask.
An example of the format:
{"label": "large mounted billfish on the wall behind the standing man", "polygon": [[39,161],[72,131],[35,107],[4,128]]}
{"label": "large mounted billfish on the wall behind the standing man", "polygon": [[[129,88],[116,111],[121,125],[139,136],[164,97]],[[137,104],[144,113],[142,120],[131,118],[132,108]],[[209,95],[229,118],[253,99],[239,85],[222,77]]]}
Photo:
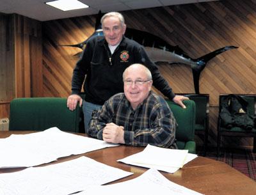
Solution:
{"label": "large mounted billfish on the wall behind the standing man", "polygon": [[[94,36],[104,36],[102,27],[100,25],[101,13],[98,14],[97,21],[95,24],[95,32],[86,40],[81,43],[77,43],[74,45],[60,45],[60,46],[70,46],[70,47],[79,47],[80,49],[84,49],[86,47],[86,43],[88,40],[93,38]],[[185,54],[179,46],[172,46],[163,39],[159,38],[156,35],[152,35],[146,31],[140,31],[137,29],[131,29],[127,27],[125,31],[125,36],[130,38],[145,47],[147,51],[148,57],[154,62],[166,62],[170,65],[172,64],[184,64],[189,65],[192,69],[193,73],[193,81],[195,93],[199,94],[199,79],[202,70],[204,70],[207,62],[221,54],[222,52],[228,51],[230,49],[237,49],[236,46],[226,46],[221,47],[215,51],[209,52],[200,58],[190,58]]]}

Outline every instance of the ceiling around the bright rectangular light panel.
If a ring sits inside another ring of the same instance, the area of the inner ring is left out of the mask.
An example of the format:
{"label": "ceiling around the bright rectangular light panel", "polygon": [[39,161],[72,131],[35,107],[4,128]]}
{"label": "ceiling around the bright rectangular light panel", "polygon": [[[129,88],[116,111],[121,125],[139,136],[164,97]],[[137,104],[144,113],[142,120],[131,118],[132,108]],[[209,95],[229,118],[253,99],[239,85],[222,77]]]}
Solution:
{"label": "ceiling around the bright rectangular light panel", "polygon": [[53,8],[45,2],[52,0],[0,0],[0,13],[18,13],[31,19],[40,21],[64,19],[83,15],[97,14],[111,11],[136,10],[173,4],[200,3],[218,0],[79,0],[88,6],[81,10],[63,12]]}

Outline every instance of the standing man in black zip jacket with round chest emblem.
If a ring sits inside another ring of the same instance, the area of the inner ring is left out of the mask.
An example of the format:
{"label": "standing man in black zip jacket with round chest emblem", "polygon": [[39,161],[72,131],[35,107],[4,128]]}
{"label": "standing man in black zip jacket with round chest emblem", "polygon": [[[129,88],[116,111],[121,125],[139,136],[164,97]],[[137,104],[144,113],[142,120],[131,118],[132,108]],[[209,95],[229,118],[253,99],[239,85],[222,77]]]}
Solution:
{"label": "standing man in black zip jacket with round chest emblem", "polygon": [[88,132],[88,123],[92,118],[93,110],[100,109],[111,96],[124,91],[122,74],[125,68],[133,63],[147,66],[157,90],[185,108],[182,100],[188,97],[175,95],[168,82],[161,76],[157,66],[148,58],[143,46],[125,38],[126,25],[122,14],[106,13],[100,22],[104,38],[95,36],[87,43],[81,59],[77,61],[74,68],[72,95],[67,99],[67,107],[70,110],[76,109],[77,103],[81,106],[83,99],[79,93],[84,82],[85,132]]}

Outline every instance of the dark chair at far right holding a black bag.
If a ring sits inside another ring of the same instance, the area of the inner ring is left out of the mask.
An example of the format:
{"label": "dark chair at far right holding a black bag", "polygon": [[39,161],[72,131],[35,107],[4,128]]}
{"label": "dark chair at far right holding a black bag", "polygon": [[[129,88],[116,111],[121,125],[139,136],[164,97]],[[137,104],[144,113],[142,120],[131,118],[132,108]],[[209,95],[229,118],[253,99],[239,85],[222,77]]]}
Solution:
{"label": "dark chair at far right holding a black bag", "polygon": [[[228,94],[221,94],[219,97],[219,117],[218,117],[218,138],[217,138],[217,157],[220,155],[221,137],[231,136],[231,137],[253,137],[253,152],[256,152],[256,128],[255,128],[255,118],[256,118],[256,95],[244,95],[244,94],[234,94],[243,97],[248,105],[246,106],[246,113],[253,118],[254,124],[253,129],[245,130],[243,127],[231,128],[223,127],[223,122],[221,121],[221,105],[222,102],[227,98]],[[224,142],[223,142],[224,144]]]}

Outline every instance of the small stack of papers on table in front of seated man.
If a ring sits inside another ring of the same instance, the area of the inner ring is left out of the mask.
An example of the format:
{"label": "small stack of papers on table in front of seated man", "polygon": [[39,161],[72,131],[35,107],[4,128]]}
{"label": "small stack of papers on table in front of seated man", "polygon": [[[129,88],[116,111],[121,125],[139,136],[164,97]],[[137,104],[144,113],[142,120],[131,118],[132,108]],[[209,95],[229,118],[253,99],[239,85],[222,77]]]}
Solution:
{"label": "small stack of papers on table in front of seated man", "polygon": [[139,153],[135,153],[124,159],[117,160],[126,164],[154,168],[168,173],[175,173],[184,164],[193,160],[197,155],[188,153],[188,150],[175,150],[169,148],[159,148],[150,144]]}

